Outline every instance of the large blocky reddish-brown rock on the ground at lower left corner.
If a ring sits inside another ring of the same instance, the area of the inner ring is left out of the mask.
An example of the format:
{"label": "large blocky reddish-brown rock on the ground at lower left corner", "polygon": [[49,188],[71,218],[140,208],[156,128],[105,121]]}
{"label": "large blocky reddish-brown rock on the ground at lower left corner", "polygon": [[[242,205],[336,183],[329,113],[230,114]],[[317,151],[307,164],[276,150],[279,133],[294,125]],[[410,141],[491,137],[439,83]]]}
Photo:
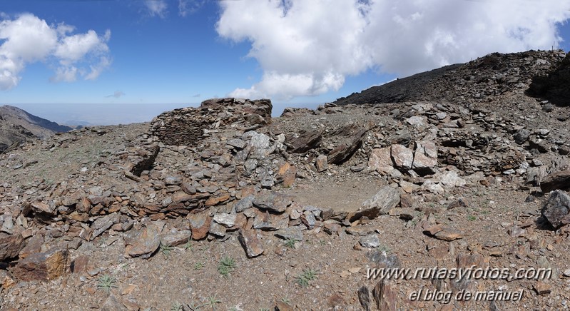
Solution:
{"label": "large blocky reddish-brown rock on the ground at lower left corner", "polygon": [[14,267],[19,280],[54,280],[65,274],[68,266],[67,250],[52,248],[46,253],[36,253],[24,258]]}

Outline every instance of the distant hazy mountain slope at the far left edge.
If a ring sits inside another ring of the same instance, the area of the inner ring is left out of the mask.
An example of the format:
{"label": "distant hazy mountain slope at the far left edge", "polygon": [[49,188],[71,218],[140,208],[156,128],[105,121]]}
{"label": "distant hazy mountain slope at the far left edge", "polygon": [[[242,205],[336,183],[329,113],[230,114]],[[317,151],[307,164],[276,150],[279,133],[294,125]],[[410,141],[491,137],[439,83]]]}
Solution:
{"label": "distant hazy mountain slope at the far left edge", "polygon": [[31,138],[48,138],[71,129],[14,106],[0,106],[0,153]]}

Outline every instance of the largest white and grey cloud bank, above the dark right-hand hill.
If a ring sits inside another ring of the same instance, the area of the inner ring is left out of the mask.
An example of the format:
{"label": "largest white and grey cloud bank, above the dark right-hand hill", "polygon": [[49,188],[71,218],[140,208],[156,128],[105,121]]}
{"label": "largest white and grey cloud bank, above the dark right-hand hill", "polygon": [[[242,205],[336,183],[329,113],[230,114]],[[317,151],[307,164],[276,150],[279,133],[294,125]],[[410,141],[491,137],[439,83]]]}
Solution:
{"label": "largest white and grey cloud bank, above the dark right-hand hill", "polygon": [[570,0],[220,1],[216,30],[248,41],[261,81],[231,96],[289,99],[337,91],[369,69],[398,76],[487,53],[551,49]]}

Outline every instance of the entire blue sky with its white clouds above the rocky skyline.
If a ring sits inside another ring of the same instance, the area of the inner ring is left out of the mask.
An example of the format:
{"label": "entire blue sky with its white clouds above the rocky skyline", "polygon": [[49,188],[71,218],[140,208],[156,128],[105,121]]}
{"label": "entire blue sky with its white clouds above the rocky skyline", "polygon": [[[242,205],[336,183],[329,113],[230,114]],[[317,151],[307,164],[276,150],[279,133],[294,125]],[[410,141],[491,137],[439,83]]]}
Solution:
{"label": "entire blue sky with its white clouds above the rocky skyline", "polygon": [[314,107],[494,51],[568,51],[569,9],[570,0],[1,0],[0,104],[101,124],[224,96]]}

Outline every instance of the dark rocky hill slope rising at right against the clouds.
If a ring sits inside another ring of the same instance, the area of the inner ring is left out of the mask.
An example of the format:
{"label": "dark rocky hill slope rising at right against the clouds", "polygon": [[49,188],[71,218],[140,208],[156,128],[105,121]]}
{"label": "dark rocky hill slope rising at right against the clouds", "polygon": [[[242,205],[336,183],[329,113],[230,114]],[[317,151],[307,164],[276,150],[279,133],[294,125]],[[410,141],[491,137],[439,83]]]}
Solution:
{"label": "dark rocky hill slope rising at right against the clouds", "polygon": [[491,53],[469,63],[459,63],[417,73],[360,93],[338,98],[337,105],[443,101],[492,102],[497,96],[529,88],[532,78],[559,68],[564,51]]}

